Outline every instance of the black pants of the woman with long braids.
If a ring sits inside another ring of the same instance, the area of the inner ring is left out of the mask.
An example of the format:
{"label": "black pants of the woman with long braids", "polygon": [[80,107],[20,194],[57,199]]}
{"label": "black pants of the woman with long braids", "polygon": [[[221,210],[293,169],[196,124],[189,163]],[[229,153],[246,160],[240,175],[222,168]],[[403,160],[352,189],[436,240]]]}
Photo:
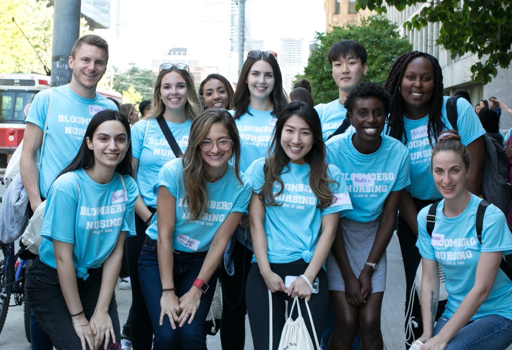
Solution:
{"label": "black pants of the woman with long braids", "polygon": [[[414,204],[418,212],[428,206],[429,204],[434,203],[435,201],[423,201],[416,198],[413,198]],[[411,293],[411,288],[413,287],[414,279],[416,278],[416,270],[418,269],[419,262],[421,261],[421,255],[419,254],[418,248],[416,247],[416,236],[412,232],[409,225],[407,225],[406,221],[402,216],[398,215],[397,220],[397,236],[398,242],[400,243],[400,250],[402,252],[402,262],[403,262],[403,270],[406,274],[406,312],[407,307],[409,305],[409,296]],[[421,306],[419,304],[418,294],[414,292],[414,306],[412,310],[412,316],[414,320],[418,323],[418,327],[413,329],[414,338],[418,339],[423,334],[423,322],[421,321]],[[437,307],[437,316],[438,319],[446,305],[446,300],[440,301]],[[407,322],[407,320],[406,320]],[[404,324],[404,327],[407,324]],[[406,348],[409,346],[406,345]]]}

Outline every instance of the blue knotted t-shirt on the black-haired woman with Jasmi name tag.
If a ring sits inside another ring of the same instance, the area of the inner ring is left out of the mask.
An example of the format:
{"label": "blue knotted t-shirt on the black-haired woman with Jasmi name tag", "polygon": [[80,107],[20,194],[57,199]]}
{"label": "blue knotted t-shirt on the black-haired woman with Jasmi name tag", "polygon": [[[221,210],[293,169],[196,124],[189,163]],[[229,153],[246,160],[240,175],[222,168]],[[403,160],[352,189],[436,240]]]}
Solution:
{"label": "blue knotted t-shirt on the black-haired woman with Jasmi name tag", "polygon": [[[85,170],[62,174],[50,187],[42,223],[39,258],[56,269],[52,240],[73,245],[76,276],[99,268],[114,250],[120,231],[134,236],[134,204],[139,191],[132,177],[119,175],[108,184],[93,181]],[[124,193],[123,193],[124,192]]]}

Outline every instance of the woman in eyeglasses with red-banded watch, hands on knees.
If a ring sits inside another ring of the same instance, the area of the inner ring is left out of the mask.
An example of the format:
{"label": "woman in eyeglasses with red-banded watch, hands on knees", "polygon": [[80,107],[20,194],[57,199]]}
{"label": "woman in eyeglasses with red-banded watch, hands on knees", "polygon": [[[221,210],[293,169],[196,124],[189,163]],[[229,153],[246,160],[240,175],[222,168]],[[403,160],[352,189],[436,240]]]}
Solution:
{"label": "woman in eyeglasses with red-banded watch, hands on knees", "polygon": [[209,108],[192,123],[183,158],[160,170],[157,213],[139,260],[155,350],[206,349],[219,262],[251,193],[239,160],[233,118]]}

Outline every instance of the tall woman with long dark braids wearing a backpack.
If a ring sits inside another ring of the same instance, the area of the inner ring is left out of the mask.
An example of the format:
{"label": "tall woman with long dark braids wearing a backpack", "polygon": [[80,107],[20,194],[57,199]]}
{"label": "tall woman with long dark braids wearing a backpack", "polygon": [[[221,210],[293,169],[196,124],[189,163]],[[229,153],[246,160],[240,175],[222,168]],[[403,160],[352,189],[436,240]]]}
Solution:
{"label": "tall woman with long dark braids wearing a backpack", "polygon": [[[442,199],[430,171],[435,140],[443,130],[458,129],[462,144],[472,160],[466,186],[470,192],[478,194],[483,163],[482,135],[485,130],[473,106],[463,98],[456,100],[457,125],[450,124],[446,116],[449,97],[443,96],[441,67],[437,59],[427,53],[413,51],[397,57],[384,88],[392,96],[386,133],[403,142],[410,154],[411,185],[402,195],[397,227],[406,273],[407,305],[420,261],[415,247],[418,236],[416,216],[421,208]],[[421,323],[419,302],[417,296],[414,298],[412,316],[415,322]],[[440,306],[442,311],[444,305]],[[414,329],[415,338],[421,333],[422,326],[419,324]]]}

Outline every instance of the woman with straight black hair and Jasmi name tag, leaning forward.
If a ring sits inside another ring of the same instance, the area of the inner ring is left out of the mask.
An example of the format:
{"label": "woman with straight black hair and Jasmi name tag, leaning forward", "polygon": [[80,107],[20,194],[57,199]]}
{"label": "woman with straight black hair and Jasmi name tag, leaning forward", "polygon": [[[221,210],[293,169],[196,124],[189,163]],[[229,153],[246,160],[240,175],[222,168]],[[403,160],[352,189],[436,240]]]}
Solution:
{"label": "woman with straight black hair and Jasmi name tag, leaning forward", "polygon": [[114,294],[124,238],[135,234],[130,124],[105,110],[90,121],[77,155],[50,187],[27,303],[57,349],[119,341]]}

